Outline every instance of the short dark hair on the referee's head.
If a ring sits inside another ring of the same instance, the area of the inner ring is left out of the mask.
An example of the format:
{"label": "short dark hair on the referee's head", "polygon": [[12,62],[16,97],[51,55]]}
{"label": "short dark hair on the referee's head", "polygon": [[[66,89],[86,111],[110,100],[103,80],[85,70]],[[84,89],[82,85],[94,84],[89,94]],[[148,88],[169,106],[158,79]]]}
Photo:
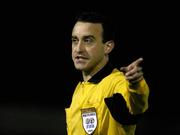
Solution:
{"label": "short dark hair on the referee's head", "polygon": [[108,18],[107,15],[94,11],[82,12],[76,17],[75,21],[100,23],[103,28],[103,43],[115,39],[115,30],[112,25],[112,20]]}

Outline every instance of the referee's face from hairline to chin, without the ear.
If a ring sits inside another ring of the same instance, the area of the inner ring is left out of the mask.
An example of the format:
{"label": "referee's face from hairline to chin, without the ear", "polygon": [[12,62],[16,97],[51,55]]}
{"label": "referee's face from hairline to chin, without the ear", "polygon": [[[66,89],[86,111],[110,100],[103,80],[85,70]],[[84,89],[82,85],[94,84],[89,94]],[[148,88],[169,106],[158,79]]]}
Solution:
{"label": "referee's face from hairline to chin, without the ear", "polygon": [[92,73],[107,61],[100,23],[77,22],[72,31],[72,59],[76,69]]}

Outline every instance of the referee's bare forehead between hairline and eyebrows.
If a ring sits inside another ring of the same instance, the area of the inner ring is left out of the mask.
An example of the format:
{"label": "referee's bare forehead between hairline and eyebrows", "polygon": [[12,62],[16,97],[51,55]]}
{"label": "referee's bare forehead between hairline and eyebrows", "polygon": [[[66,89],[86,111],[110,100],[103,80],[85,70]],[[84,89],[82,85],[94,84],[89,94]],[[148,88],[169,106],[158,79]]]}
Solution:
{"label": "referee's bare forehead between hairline and eyebrows", "polygon": [[72,36],[99,36],[102,34],[102,25],[100,23],[77,22],[74,25]]}

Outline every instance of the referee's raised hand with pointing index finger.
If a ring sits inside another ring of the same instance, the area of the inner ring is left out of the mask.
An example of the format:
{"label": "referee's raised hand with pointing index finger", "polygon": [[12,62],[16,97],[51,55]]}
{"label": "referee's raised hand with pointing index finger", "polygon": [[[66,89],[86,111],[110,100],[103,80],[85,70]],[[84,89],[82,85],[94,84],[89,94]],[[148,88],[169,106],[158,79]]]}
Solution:
{"label": "referee's raised hand with pointing index finger", "polygon": [[130,83],[138,83],[143,79],[143,71],[140,63],[143,61],[143,58],[139,58],[127,67],[121,67],[120,71],[122,71],[126,79],[129,80]]}

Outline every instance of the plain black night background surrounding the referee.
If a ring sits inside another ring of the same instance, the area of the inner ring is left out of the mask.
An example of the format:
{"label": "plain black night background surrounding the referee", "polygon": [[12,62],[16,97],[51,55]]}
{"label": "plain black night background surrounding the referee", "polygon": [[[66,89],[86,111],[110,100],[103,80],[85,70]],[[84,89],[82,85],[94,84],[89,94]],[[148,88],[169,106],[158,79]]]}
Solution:
{"label": "plain black night background surrounding the referee", "polygon": [[111,55],[115,65],[144,58],[151,93],[136,134],[180,134],[176,4],[92,5],[3,5],[0,134],[66,134],[64,108],[78,76],[71,61],[71,28],[73,17],[84,9],[98,9],[115,20],[118,38]]}

